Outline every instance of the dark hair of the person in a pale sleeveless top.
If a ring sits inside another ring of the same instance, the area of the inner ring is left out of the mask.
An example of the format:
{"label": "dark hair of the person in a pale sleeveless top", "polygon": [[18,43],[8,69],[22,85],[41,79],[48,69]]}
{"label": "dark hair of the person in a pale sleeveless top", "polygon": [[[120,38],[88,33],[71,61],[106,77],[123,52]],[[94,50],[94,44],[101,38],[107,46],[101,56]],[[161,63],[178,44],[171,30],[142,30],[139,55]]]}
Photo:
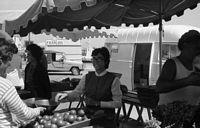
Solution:
{"label": "dark hair of the person in a pale sleeveless top", "polygon": [[184,33],[178,41],[179,50],[183,50],[184,44],[197,44],[200,40],[200,33],[197,30],[189,30]]}

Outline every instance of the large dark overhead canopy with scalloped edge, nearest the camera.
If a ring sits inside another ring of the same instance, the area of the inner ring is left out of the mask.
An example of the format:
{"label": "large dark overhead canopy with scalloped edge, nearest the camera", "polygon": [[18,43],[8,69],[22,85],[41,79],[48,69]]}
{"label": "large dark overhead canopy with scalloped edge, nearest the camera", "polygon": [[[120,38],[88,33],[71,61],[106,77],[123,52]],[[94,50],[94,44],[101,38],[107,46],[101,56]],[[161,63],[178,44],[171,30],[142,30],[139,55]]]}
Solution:
{"label": "large dark overhead canopy with scalloped edge, nearest the camera", "polygon": [[[54,28],[57,31],[84,26],[101,27],[149,23],[160,19],[169,21],[173,15],[181,16],[184,10],[193,9],[200,0],[37,0],[18,19],[6,21],[5,30],[26,36],[29,32]],[[162,5],[162,6],[161,6]]]}

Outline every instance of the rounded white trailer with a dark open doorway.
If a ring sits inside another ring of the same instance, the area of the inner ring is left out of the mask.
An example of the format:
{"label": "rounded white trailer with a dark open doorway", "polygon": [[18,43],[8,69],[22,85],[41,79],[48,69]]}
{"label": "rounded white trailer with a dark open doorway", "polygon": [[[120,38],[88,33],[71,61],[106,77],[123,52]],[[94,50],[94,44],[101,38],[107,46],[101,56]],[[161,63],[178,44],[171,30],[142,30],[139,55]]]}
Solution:
{"label": "rounded white trailer with a dark open doorway", "polygon": [[[179,54],[177,44],[182,34],[191,29],[200,31],[184,25],[167,25],[163,29],[163,63]],[[159,76],[158,26],[119,29],[117,38],[108,39],[105,46],[111,53],[109,71],[122,73],[121,83],[129,90],[156,84]]]}

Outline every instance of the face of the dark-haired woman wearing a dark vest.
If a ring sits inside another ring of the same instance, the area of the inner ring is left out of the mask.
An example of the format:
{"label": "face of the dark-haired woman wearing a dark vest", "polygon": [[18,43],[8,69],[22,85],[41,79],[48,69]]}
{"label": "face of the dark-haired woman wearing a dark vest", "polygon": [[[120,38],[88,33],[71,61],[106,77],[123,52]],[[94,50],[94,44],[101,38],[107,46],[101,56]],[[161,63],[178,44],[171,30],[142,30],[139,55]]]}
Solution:
{"label": "face of the dark-haired woman wearing a dark vest", "polygon": [[100,53],[96,56],[92,56],[92,64],[97,72],[102,72],[105,70],[105,60]]}

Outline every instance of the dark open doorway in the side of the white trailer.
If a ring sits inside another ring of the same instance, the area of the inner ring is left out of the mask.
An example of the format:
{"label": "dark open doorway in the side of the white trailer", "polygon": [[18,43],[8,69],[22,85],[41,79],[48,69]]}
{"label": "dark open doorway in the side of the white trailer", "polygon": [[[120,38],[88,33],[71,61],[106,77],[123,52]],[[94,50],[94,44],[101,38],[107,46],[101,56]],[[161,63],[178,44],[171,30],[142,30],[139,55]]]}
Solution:
{"label": "dark open doorway in the side of the white trailer", "polygon": [[151,43],[136,44],[134,62],[134,87],[148,85]]}

